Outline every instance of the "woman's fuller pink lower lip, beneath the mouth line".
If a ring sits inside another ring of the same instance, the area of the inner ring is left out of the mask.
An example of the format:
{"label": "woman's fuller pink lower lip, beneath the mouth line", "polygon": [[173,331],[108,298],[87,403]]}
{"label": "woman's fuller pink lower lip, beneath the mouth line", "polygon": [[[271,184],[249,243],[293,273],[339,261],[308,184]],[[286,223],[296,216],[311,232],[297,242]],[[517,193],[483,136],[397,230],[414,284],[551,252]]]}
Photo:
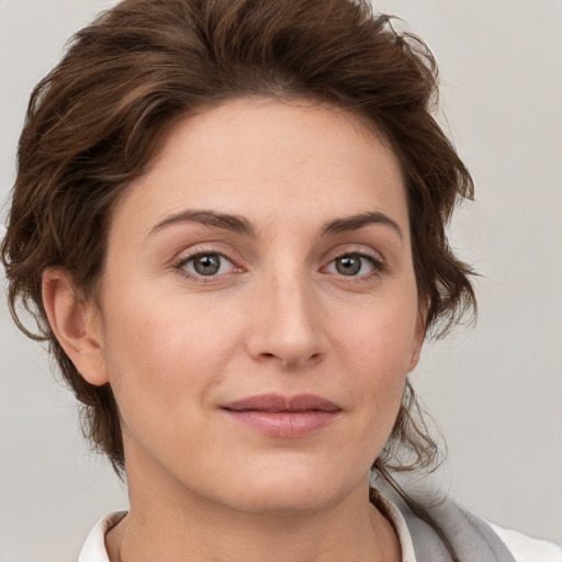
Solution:
{"label": "woman's fuller pink lower lip, beneath the mouth line", "polygon": [[225,412],[238,423],[249,426],[270,437],[303,437],[324,429],[339,415],[336,412]]}

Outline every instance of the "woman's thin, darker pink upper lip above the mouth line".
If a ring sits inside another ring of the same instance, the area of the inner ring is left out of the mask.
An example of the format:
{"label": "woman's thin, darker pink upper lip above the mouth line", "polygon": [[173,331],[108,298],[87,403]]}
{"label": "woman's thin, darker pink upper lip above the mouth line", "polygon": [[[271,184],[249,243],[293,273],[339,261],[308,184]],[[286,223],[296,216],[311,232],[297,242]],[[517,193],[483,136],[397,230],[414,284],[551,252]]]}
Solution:
{"label": "woman's thin, darker pink upper lip above the mouth line", "polygon": [[222,406],[233,412],[339,412],[341,408],[334,402],[314,394],[259,394],[248,396]]}

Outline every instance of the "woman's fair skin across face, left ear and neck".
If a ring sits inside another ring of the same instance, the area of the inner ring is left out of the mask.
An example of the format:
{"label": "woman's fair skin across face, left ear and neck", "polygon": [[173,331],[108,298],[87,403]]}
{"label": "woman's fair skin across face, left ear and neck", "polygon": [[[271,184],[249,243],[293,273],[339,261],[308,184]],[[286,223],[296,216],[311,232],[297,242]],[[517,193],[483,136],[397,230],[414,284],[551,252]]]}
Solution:
{"label": "woman's fair skin across face, left ear and neck", "polygon": [[356,117],[243,99],[180,121],[114,209],[100,307],[61,269],[44,301],[122,415],[112,562],[400,560],[368,482],[424,318],[398,161]]}

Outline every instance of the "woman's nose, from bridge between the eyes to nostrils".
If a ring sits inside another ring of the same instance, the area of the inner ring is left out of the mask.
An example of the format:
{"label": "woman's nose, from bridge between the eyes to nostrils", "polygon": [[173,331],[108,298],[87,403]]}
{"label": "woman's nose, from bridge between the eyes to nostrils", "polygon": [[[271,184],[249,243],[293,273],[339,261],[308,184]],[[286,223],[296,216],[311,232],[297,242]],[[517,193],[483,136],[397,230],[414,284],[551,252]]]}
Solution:
{"label": "woman's nose, from bridge between the eyes to nostrils", "polygon": [[252,292],[248,351],[285,370],[316,364],[326,352],[322,303],[305,276],[274,276]]}

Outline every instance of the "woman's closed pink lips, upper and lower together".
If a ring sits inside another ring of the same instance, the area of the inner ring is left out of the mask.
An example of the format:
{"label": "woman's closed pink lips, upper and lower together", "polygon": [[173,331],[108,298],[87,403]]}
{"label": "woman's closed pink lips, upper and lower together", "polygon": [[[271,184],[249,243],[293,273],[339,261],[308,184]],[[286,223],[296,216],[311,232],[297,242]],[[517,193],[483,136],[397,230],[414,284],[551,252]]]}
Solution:
{"label": "woman's closed pink lips, upper and lower together", "polygon": [[341,408],[313,394],[261,394],[222,406],[236,422],[270,437],[303,437],[331,424]]}

